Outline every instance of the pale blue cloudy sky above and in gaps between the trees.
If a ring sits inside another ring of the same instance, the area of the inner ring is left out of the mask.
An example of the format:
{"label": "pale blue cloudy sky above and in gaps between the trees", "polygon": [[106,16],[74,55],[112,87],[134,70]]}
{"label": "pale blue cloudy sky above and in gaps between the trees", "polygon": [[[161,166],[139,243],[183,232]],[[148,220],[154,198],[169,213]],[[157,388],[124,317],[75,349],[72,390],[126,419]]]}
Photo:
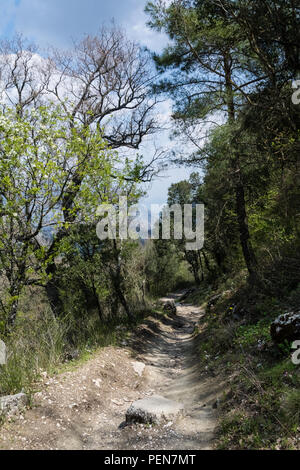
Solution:
{"label": "pale blue cloudy sky above and in gaps between the trees", "polygon": [[[96,33],[103,23],[112,19],[121,25],[127,35],[152,51],[160,51],[167,38],[151,31],[144,13],[145,0],[0,0],[0,37],[10,38],[16,32],[33,40],[40,47],[67,48],[73,39],[83,34]],[[159,110],[165,122],[171,113],[171,103],[166,101]],[[157,134],[156,147],[169,148],[169,131]],[[140,153],[149,158],[153,147],[147,143]],[[149,155],[147,155],[149,153]],[[190,170],[172,168],[155,180],[148,189],[145,203],[163,204],[168,187],[188,178]]]}

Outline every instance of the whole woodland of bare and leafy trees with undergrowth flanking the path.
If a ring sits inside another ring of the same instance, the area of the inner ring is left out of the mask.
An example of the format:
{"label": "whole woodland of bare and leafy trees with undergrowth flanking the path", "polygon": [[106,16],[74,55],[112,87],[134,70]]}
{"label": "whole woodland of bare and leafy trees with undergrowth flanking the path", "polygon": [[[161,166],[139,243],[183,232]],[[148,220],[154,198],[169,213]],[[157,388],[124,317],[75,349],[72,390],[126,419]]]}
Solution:
{"label": "whole woodland of bare and leafy trees with undergrowth flanking the path", "polygon": [[[180,292],[205,312],[199,368],[230,383],[216,447],[299,449],[299,10],[147,2],[160,52],[115,23],[47,54],[21,34],[1,41],[0,396],[33,396],[42,371],[130,343]],[[176,145],[143,154],[166,100]],[[99,240],[98,207],[138,205],[169,165],[190,176],[165,206],[204,205],[203,247],[175,229]]]}

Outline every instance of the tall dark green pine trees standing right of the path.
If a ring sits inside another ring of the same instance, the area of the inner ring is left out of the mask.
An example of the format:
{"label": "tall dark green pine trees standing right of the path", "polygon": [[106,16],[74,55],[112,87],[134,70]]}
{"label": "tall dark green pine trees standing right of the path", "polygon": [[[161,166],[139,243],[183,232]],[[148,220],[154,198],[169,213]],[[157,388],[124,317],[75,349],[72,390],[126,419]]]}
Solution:
{"label": "tall dark green pine trees standing right of the path", "polygon": [[[300,278],[284,268],[288,259],[298,263],[300,233],[300,114],[290,86],[299,70],[291,31],[298,37],[299,28],[294,3],[275,3],[262,12],[258,1],[156,1],[146,12],[149,25],[170,38],[155,56],[162,73],[155,91],[174,100],[175,135],[195,144],[175,161],[204,170],[198,195],[215,274],[246,266],[252,283],[288,291]],[[260,15],[273,36],[258,27]],[[187,197],[187,182],[174,186],[177,199]]]}

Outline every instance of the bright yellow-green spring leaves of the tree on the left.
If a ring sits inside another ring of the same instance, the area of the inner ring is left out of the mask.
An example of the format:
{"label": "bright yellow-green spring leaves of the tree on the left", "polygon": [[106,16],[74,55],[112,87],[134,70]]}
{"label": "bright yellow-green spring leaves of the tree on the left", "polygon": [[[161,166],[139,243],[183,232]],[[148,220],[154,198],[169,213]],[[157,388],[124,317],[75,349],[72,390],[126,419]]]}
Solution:
{"label": "bright yellow-green spring leaves of the tree on the left", "polygon": [[[38,236],[67,230],[78,216],[82,221],[94,217],[116,155],[98,130],[70,128],[69,116],[54,106],[22,117],[6,109],[0,115],[0,141],[0,272],[7,285],[1,308],[13,324],[24,287],[48,280],[54,253]],[[70,192],[76,195],[74,204],[65,207]]]}

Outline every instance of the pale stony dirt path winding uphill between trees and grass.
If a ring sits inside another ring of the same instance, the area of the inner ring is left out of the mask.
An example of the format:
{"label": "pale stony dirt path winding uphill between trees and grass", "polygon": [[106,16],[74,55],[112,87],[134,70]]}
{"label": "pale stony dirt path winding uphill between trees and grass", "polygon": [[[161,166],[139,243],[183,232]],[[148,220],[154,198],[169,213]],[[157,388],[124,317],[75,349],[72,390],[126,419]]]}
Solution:
{"label": "pale stony dirt path winding uphill between trees and grass", "polygon": [[[34,407],[1,429],[0,449],[210,449],[212,405],[222,385],[199,376],[193,333],[202,314],[185,305],[162,321],[151,317],[131,350],[105,348],[74,370],[45,377]],[[134,361],[146,365],[141,376]],[[160,426],[120,427],[130,403],[153,394],[182,402],[183,416]]]}

